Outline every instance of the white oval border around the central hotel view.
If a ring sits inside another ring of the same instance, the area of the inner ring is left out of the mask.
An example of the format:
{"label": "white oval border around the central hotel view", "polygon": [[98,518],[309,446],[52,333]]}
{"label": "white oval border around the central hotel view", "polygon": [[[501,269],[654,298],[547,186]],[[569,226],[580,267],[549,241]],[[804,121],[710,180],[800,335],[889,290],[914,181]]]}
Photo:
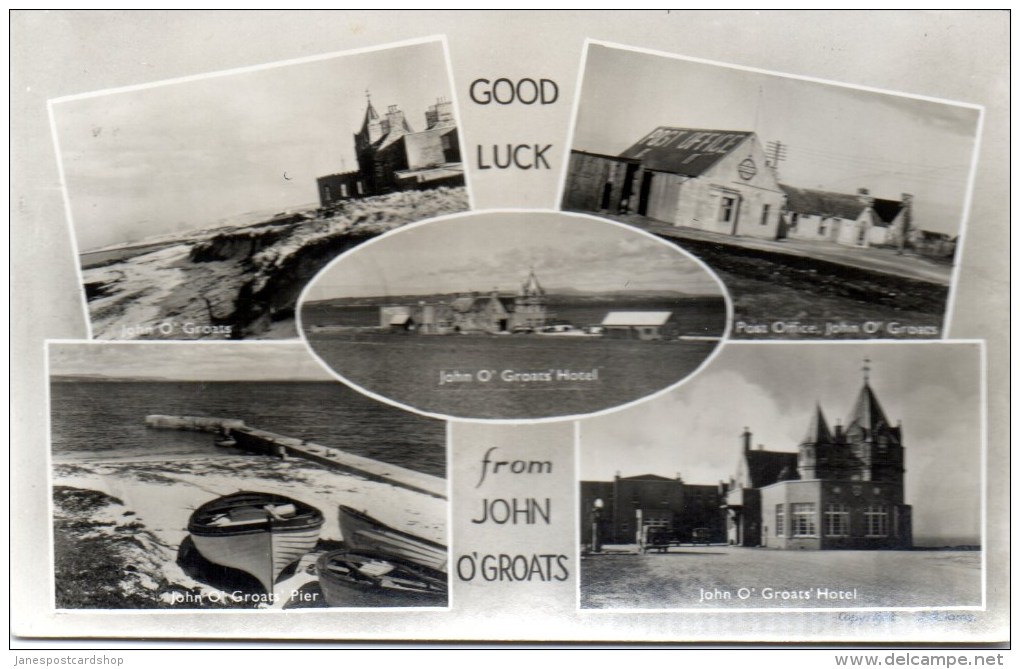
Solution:
{"label": "white oval border around the central hotel view", "polygon": [[[611,407],[607,407],[605,409],[600,409],[598,411],[593,411],[591,413],[584,413],[584,414],[564,414],[564,415],[559,415],[559,416],[545,416],[545,417],[533,417],[533,418],[476,418],[476,417],[471,417],[471,416],[450,416],[450,415],[446,415],[446,414],[432,413],[432,412],[429,412],[429,411],[424,411],[422,409],[417,409],[417,408],[412,407],[410,405],[403,404],[401,402],[397,402],[396,400],[391,400],[391,399],[389,399],[389,398],[387,398],[385,396],[378,395],[376,393],[373,393],[372,391],[369,391],[369,390],[367,390],[365,388],[362,388],[362,387],[358,385],[357,383],[355,383],[354,381],[345,378],[340,372],[338,372],[337,370],[335,370],[325,360],[323,360],[321,357],[319,357],[318,353],[315,352],[315,349],[308,342],[308,338],[305,337],[304,327],[303,327],[302,322],[301,322],[301,311],[302,311],[301,308],[302,308],[302,306],[304,306],[306,293],[308,293],[308,290],[316,282],[316,280],[318,280],[319,277],[321,277],[325,272],[329,271],[329,269],[335,264],[337,264],[337,263],[341,262],[342,260],[344,260],[349,254],[360,252],[360,251],[362,251],[362,250],[370,247],[371,245],[373,245],[373,244],[375,244],[377,242],[381,242],[381,241],[388,240],[390,237],[392,237],[394,235],[400,235],[401,233],[403,233],[405,230],[412,229],[412,228],[415,228],[415,227],[418,227],[418,226],[421,226],[421,225],[430,225],[430,224],[434,224],[434,223],[439,223],[439,222],[442,222],[442,221],[445,221],[445,220],[449,220],[449,219],[452,219],[452,218],[464,218],[464,217],[468,217],[468,216],[487,216],[487,215],[490,215],[490,214],[497,214],[497,215],[505,215],[505,214],[510,214],[510,215],[527,215],[527,214],[536,214],[536,213],[549,214],[549,215],[555,215],[555,216],[567,216],[567,217],[573,217],[573,218],[589,219],[589,220],[593,221],[592,222],[593,225],[594,224],[615,225],[616,227],[623,228],[623,229],[625,229],[625,230],[627,230],[629,233],[633,233],[635,235],[641,235],[641,236],[647,237],[647,238],[649,238],[650,240],[652,240],[653,242],[655,242],[657,244],[664,245],[667,249],[669,249],[672,252],[677,253],[679,256],[685,257],[685,259],[693,261],[696,265],[698,265],[699,267],[701,267],[709,276],[711,276],[713,279],[715,279],[716,284],[719,285],[720,294],[722,295],[723,302],[726,305],[726,325],[725,325],[725,329],[723,330],[722,336],[719,338],[718,343],[716,343],[715,348],[713,348],[712,351],[701,361],[701,363],[697,367],[695,367],[691,372],[688,372],[686,376],[683,376],[682,378],[677,379],[676,381],[674,381],[670,385],[662,388],[662,389],[660,389],[658,391],[652,391],[648,395],[644,395],[644,396],[642,396],[640,398],[636,398],[634,400],[631,400],[631,401],[629,401],[629,402],[627,402],[625,404],[618,404],[618,405],[614,405],[614,406],[611,406]],[[322,267],[322,269],[319,270],[319,273],[315,277],[313,277],[311,280],[309,280],[308,284],[305,286],[304,290],[301,292],[301,295],[298,297],[297,306],[295,308],[295,321],[296,321],[296,323],[298,325],[298,333],[301,337],[301,341],[304,342],[304,344],[307,347],[308,352],[311,354],[311,356],[316,361],[318,361],[318,363],[320,365],[322,365],[322,367],[327,372],[329,372],[334,377],[336,377],[338,380],[346,383],[347,385],[353,388],[354,390],[358,391],[359,393],[362,393],[363,395],[366,395],[366,396],[372,398],[373,400],[377,400],[379,402],[389,404],[391,406],[398,407],[398,408],[403,409],[405,411],[410,411],[410,412],[413,412],[413,413],[416,413],[416,414],[420,414],[422,416],[428,416],[430,418],[439,418],[441,420],[455,420],[455,421],[458,421],[458,422],[468,422],[468,423],[490,423],[490,424],[497,424],[497,425],[515,425],[515,424],[525,424],[525,423],[526,424],[530,424],[530,423],[549,423],[549,422],[559,422],[559,421],[564,421],[564,420],[578,420],[580,418],[588,418],[588,417],[591,417],[591,416],[601,416],[601,415],[606,414],[606,413],[611,413],[611,412],[614,412],[614,411],[618,411],[620,409],[624,409],[626,407],[630,407],[630,406],[640,404],[642,402],[646,402],[648,400],[651,400],[652,398],[659,397],[660,395],[663,395],[664,393],[668,393],[669,391],[671,391],[671,390],[673,390],[675,388],[678,388],[679,385],[681,385],[682,383],[684,383],[687,379],[690,379],[690,378],[692,378],[694,376],[697,376],[698,373],[702,369],[704,369],[705,366],[708,365],[709,362],[712,361],[712,359],[719,353],[719,351],[722,349],[722,347],[725,346],[726,342],[729,340],[729,330],[730,330],[730,328],[732,327],[732,324],[733,324],[733,303],[732,303],[732,300],[730,300],[730,298],[729,298],[729,292],[726,290],[726,285],[722,281],[722,279],[719,278],[719,276],[712,270],[711,267],[709,267],[707,264],[705,264],[705,262],[701,258],[695,256],[694,254],[692,254],[690,251],[686,251],[685,249],[681,249],[680,247],[678,247],[675,244],[670,244],[669,242],[667,242],[667,241],[665,241],[665,240],[663,240],[663,239],[661,239],[659,237],[656,237],[655,235],[652,235],[651,233],[647,233],[647,231],[645,231],[643,229],[639,229],[639,228],[634,227],[633,225],[627,225],[626,223],[621,223],[621,222],[618,222],[618,221],[615,221],[615,220],[610,220],[610,219],[607,219],[607,218],[599,218],[598,216],[593,216],[591,214],[582,214],[582,213],[577,213],[577,212],[572,212],[572,211],[558,211],[556,209],[516,209],[516,208],[514,208],[514,209],[480,209],[480,210],[477,210],[477,211],[466,211],[466,212],[459,212],[459,213],[454,213],[454,214],[446,214],[446,215],[443,215],[443,216],[437,216],[435,218],[427,218],[425,220],[416,221],[414,223],[408,223],[407,225],[402,225],[401,227],[397,227],[395,229],[389,230],[389,231],[387,231],[387,233],[385,233],[382,235],[379,235],[378,237],[374,237],[374,238],[372,238],[372,239],[370,239],[370,240],[368,240],[368,241],[366,241],[366,242],[364,242],[362,244],[359,244],[358,246],[354,247],[353,249],[349,249],[348,251],[345,251],[344,253],[340,254],[339,256],[337,256],[336,258],[334,258],[333,260],[330,260],[327,265],[325,265],[324,267]]]}

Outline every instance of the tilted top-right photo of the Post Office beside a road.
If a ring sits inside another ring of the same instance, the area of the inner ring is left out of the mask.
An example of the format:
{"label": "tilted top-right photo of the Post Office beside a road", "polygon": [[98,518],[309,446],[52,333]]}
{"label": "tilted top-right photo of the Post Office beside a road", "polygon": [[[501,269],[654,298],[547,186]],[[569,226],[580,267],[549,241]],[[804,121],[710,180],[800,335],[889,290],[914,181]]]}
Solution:
{"label": "tilted top-right photo of the Post Office beside a road", "polygon": [[734,339],[938,339],[981,109],[590,42],[561,206],[679,245]]}

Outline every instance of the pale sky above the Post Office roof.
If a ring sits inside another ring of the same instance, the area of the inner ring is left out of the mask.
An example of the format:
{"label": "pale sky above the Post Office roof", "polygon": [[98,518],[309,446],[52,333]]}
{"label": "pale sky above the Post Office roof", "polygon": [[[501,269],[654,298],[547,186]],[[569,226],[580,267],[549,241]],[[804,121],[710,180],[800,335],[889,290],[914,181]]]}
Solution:
{"label": "pale sky above the Post Office roof", "polygon": [[914,195],[915,224],[957,235],[978,111],[593,44],[571,148],[616,155],[659,125],[778,141],[780,183]]}

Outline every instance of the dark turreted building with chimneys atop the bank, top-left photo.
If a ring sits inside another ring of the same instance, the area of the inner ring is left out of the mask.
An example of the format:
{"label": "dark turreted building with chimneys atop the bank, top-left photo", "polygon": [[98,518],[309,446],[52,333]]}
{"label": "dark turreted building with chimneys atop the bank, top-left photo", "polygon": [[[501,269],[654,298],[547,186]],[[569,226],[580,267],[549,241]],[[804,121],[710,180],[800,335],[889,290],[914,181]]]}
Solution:
{"label": "dark turreted building with chimneys atop the bank, top-left photo", "polygon": [[323,207],[394,191],[464,185],[453,103],[445,98],[428,107],[425,130],[415,133],[397,105],[379,114],[369,97],[354,151],[357,170],[318,177]]}

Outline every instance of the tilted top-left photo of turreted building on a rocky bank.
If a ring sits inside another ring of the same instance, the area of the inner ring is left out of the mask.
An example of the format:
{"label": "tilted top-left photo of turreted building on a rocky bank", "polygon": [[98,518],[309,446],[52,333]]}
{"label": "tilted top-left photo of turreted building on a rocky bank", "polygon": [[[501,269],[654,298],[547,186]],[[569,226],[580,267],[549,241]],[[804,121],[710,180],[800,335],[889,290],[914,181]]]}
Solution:
{"label": "tilted top-left photo of turreted building on a rocky bank", "polygon": [[469,207],[444,43],[54,100],[92,336],[296,338],[364,240]]}

